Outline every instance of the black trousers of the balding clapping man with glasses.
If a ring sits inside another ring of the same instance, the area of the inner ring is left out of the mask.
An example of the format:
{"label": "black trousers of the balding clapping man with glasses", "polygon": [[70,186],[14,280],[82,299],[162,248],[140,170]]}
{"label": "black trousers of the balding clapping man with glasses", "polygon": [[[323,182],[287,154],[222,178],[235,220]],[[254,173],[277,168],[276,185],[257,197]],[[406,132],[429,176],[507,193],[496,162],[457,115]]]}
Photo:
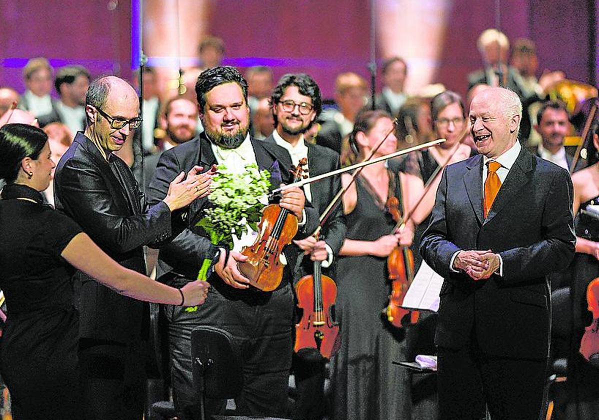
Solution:
{"label": "black trousers of the balding clapping man with glasses", "polygon": [[141,420],[146,389],[144,343],[81,339],[83,399],[88,420]]}

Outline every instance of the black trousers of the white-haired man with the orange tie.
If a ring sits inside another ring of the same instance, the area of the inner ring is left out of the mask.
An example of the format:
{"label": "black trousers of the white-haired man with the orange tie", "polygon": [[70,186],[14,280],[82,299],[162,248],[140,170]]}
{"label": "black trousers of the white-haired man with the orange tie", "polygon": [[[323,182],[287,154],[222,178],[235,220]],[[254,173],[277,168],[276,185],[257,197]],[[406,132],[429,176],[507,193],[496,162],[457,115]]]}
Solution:
{"label": "black trousers of the white-haired man with the orange tie", "polygon": [[474,345],[438,348],[441,420],[537,420],[543,406],[546,359],[483,354]]}

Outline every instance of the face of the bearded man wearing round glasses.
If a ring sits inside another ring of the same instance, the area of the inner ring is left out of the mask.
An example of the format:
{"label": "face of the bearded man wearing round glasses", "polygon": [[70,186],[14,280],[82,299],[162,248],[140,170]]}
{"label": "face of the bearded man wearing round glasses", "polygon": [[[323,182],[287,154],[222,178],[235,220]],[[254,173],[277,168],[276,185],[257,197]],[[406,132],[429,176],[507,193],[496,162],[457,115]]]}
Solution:
{"label": "face of the bearded man wearing round glasses", "polygon": [[[286,111],[284,109],[283,102],[285,101],[295,102],[296,105],[293,110]],[[305,115],[302,114],[299,110],[301,104],[310,105],[310,112]],[[279,134],[303,134],[310,127],[314,118],[316,118],[316,111],[314,111],[312,98],[299,93],[299,88],[297,86],[288,86],[285,88],[280,101],[274,104],[274,113],[277,116],[277,132],[279,132]]]}

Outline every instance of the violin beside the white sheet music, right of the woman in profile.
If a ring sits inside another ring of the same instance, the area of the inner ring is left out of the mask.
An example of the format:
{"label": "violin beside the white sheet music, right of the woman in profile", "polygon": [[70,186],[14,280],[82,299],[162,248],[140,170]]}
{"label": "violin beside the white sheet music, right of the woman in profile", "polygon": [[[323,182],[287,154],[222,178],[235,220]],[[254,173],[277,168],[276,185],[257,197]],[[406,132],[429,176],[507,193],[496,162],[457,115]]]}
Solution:
{"label": "violin beside the white sheet music, right of the woman in profile", "polygon": [[[397,197],[389,197],[387,209],[393,220],[401,226],[404,221],[399,206],[400,201]],[[406,293],[414,280],[414,255],[412,250],[407,246],[396,246],[387,257],[387,268],[389,280],[391,280],[391,295],[389,295],[389,304],[386,309],[388,321],[394,327],[401,328],[406,315],[410,315],[408,323],[416,324],[420,312],[402,307]]]}

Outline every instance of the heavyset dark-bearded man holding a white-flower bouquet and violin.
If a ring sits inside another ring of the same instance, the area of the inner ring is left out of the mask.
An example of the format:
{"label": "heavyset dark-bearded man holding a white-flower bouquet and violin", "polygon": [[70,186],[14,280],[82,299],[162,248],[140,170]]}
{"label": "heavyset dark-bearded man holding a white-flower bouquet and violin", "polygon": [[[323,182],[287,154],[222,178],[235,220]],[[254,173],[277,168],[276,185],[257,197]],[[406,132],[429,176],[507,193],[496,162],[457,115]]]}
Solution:
{"label": "heavyset dark-bearded man holding a white-flower bouquet and violin", "polygon": [[[203,71],[195,86],[198,110],[204,132],[187,143],[162,153],[148,191],[150,202],[162,200],[165,180],[194,165],[205,168],[224,164],[228,171],[244,171],[247,164],[258,164],[271,173],[272,188],[291,182],[292,160],[276,144],[255,140],[249,133],[250,111],[247,105],[247,82],[234,67],[213,67]],[[305,201],[299,188],[283,191],[279,205],[299,220],[296,239],[305,238],[318,222],[316,210]],[[207,238],[196,223],[202,217],[199,201],[190,207],[187,228],[168,246],[161,248],[158,276],[162,282],[185,284],[196,278],[202,263],[202,247]],[[292,313],[294,298],[292,273],[298,248],[283,250],[288,265],[280,286],[263,292],[249,286],[240,274],[238,261],[246,257],[238,252],[215,255],[215,272],[208,282],[213,293],[195,312],[167,307],[170,322],[170,350],[173,359],[173,397],[180,419],[199,418],[198,403],[192,382],[190,351],[191,331],[198,325],[222,328],[234,336],[244,364],[244,388],[235,398],[239,415],[286,415],[289,368],[292,355]],[[226,260],[226,261],[225,261]],[[222,413],[224,401],[208,401],[209,413]]]}

